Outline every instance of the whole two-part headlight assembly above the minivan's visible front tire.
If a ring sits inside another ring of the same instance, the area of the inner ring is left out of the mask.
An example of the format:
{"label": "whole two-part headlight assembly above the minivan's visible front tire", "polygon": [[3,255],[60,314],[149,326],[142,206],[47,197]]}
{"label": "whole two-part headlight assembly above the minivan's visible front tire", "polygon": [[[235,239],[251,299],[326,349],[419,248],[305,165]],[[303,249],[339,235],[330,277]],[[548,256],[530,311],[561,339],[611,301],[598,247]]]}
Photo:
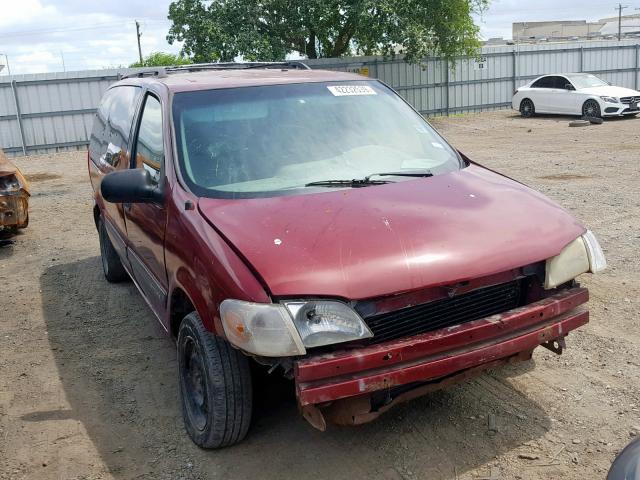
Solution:
{"label": "whole two-part headlight assembly above the minivan's visible front tire", "polygon": [[220,317],[227,340],[264,357],[304,355],[306,348],[373,336],[351,307],[336,301],[289,301],[284,305],[225,300]]}

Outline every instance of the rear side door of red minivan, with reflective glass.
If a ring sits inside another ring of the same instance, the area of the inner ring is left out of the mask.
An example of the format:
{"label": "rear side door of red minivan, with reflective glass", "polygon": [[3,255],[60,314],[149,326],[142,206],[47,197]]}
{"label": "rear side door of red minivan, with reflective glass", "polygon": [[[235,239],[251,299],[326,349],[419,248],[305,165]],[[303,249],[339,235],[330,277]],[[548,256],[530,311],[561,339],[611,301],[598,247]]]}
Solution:
{"label": "rear side door of red minivan, with reflective glass", "polygon": [[[141,96],[142,89],[135,86],[113,87],[103,96],[89,141],[90,175],[99,181],[108,173],[129,168],[129,140]],[[127,229],[122,204],[104,202],[102,217],[111,243],[124,261]]]}

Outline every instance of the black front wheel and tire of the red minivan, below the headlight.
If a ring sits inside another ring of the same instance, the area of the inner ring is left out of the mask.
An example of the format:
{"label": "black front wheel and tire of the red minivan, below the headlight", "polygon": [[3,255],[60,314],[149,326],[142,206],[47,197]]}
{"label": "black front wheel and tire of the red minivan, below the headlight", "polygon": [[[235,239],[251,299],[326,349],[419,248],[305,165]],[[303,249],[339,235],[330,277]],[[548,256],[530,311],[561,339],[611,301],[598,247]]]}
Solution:
{"label": "black front wheel and tire of the red minivan, below the headlight", "polygon": [[242,441],[253,408],[248,358],[207,331],[195,312],[180,324],[177,348],[182,416],[191,440],[210,449]]}

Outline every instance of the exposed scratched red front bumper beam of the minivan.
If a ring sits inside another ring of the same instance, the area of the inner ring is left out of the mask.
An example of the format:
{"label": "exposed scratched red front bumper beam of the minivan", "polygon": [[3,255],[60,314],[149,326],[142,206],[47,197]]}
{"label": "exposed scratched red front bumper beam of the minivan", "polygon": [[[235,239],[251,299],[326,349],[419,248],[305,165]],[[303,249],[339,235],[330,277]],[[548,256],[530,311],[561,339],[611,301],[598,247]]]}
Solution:
{"label": "exposed scratched red front bumper beam of the minivan", "polygon": [[527,360],[540,345],[561,353],[567,334],[588,323],[578,308],[588,299],[587,289],[572,288],[456,327],[307,357],[294,364],[299,406],[321,430],[326,419],[365,423],[399,402]]}

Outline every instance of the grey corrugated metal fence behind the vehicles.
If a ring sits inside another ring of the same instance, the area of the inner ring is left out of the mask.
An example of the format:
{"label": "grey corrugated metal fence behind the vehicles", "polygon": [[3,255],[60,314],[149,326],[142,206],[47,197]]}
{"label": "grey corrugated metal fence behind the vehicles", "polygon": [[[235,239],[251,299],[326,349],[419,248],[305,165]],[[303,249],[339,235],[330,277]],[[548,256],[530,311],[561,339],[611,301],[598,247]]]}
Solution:
{"label": "grey corrugated metal fence behind the vehicles", "polygon": [[[379,78],[432,116],[508,107],[518,86],[546,73],[591,72],[616,85],[640,88],[640,45],[633,41],[485,47],[481,58],[450,65],[440,58],[409,65],[382,57],[308,64]],[[0,77],[0,148],[14,155],[84,148],[103,92],[129,71]]]}

